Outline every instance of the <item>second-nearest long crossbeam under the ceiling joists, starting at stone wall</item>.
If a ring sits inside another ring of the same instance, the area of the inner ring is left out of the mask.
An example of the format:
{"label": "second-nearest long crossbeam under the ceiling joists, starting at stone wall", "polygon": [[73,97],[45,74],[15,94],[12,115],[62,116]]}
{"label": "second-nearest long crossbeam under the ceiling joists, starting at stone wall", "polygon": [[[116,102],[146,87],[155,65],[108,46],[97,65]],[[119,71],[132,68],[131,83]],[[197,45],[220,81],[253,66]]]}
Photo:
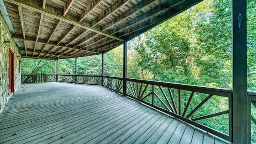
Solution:
{"label": "second-nearest long crossbeam under the ceiling joists, starting at stone wall", "polygon": [[[12,38],[17,39],[17,40],[26,41],[26,42],[34,42],[34,43],[36,42],[35,41],[36,38],[27,36],[27,39],[24,39],[24,38],[22,38],[22,35],[19,35],[19,34],[13,34]],[[46,44],[46,45],[50,45],[50,46],[58,46],[58,47],[62,47],[62,48],[69,48],[69,49],[72,49],[72,50],[80,50],[79,48],[72,48],[72,47],[57,45],[57,44],[53,44],[52,42],[47,43],[45,40],[41,40],[41,39],[38,39],[37,43],[38,44]],[[87,50],[82,50],[82,51],[87,51]],[[99,52],[95,52],[95,53],[101,54]]]}

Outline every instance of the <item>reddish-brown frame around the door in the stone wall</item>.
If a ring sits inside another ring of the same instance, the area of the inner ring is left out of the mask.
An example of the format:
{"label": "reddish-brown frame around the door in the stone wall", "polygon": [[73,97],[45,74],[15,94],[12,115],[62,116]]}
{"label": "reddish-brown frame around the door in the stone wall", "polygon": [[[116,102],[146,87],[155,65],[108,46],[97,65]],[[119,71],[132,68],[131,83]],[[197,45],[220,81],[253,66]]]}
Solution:
{"label": "reddish-brown frame around the door in the stone wall", "polygon": [[[11,56],[8,61],[8,69],[11,69],[11,73],[9,74],[8,70],[8,76],[10,76],[10,86],[8,86],[8,95],[11,93],[14,93],[14,52],[9,48],[9,55]],[[9,83],[8,83],[9,84]]]}

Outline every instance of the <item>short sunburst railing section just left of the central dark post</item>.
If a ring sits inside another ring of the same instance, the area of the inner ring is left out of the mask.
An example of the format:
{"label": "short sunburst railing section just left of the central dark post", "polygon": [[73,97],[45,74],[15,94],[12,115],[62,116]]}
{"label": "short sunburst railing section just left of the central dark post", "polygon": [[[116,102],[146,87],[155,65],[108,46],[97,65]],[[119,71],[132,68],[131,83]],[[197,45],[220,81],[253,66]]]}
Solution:
{"label": "short sunburst railing section just left of the central dark post", "polygon": [[123,94],[123,78],[103,76],[103,86]]}

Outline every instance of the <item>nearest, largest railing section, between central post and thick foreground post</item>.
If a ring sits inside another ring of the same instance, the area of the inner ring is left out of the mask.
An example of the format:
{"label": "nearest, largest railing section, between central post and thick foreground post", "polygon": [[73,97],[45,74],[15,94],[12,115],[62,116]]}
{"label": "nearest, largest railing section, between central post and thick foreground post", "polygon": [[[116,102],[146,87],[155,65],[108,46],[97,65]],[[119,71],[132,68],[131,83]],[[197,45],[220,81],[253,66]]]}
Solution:
{"label": "nearest, largest railing section, between central post and thick foreground post", "polygon": [[[232,90],[131,78],[126,78],[126,84],[127,96],[231,141],[232,108],[229,102],[232,98]],[[216,98],[220,98],[222,103],[216,104],[214,102]],[[210,108],[205,106],[206,103],[211,109],[217,108],[210,112]],[[209,112],[202,115],[203,111]],[[223,121],[226,127],[210,128],[207,124],[209,118]]]}

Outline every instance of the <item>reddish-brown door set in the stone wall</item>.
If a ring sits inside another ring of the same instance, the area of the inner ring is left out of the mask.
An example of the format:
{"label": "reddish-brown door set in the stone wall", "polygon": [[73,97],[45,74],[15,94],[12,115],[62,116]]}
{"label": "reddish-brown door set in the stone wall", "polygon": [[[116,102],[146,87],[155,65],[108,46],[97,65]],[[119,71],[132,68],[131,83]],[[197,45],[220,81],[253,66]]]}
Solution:
{"label": "reddish-brown door set in the stone wall", "polygon": [[14,53],[11,50],[9,50],[8,78],[8,94],[10,94],[11,92],[14,92]]}

